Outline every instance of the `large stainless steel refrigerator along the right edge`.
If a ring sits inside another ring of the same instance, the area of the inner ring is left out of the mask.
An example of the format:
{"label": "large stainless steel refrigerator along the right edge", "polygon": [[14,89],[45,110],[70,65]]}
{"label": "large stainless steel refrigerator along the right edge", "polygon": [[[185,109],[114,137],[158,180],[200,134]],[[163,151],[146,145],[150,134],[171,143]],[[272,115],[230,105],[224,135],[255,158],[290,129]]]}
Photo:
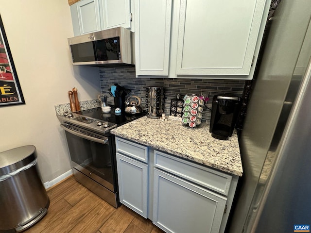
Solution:
{"label": "large stainless steel refrigerator along the right edge", "polygon": [[311,0],[282,0],[247,108],[228,233],[311,225]]}

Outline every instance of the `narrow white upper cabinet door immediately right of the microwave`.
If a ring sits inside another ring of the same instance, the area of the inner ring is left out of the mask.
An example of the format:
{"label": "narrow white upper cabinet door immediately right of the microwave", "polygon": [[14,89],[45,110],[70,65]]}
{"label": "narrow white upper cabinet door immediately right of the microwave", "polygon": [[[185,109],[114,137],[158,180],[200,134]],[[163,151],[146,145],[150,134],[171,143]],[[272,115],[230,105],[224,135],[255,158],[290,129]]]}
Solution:
{"label": "narrow white upper cabinet door immediately right of the microwave", "polygon": [[135,0],[136,75],[168,75],[172,0]]}

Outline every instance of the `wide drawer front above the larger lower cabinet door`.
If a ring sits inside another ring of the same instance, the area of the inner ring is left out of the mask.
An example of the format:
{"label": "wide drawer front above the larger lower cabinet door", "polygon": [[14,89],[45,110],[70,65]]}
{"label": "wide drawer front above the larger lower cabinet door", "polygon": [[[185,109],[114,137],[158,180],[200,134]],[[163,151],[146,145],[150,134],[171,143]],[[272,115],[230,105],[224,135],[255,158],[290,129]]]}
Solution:
{"label": "wide drawer front above the larger lower cabinet door", "polygon": [[232,176],[155,150],[154,166],[217,193],[228,195]]}

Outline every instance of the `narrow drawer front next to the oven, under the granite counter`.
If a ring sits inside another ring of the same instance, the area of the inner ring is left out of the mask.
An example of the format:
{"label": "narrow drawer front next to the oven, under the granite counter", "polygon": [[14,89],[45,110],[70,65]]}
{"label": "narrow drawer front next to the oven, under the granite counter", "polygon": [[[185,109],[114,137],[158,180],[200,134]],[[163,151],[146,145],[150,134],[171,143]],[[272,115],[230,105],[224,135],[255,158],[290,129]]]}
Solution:
{"label": "narrow drawer front next to the oven, under the granite counter", "polygon": [[148,147],[116,137],[116,150],[139,161],[148,163]]}

